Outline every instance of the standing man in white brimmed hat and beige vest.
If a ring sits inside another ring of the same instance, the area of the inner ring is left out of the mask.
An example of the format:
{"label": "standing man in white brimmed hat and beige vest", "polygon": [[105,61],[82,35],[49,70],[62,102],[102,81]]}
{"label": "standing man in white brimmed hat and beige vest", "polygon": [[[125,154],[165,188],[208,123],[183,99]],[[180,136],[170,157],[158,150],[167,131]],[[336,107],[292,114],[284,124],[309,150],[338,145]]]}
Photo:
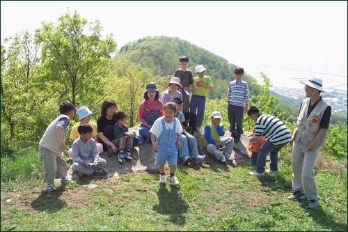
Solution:
{"label": "standing man in white brimmed hat and beige vest", "polygon": [[305,85],[306,98],[303,100],[296,128],[290,145],[292,145],[292,190],[288,197],[292,201],[307,197],[309,208],[318,206],[319,196],[314,178],[314,167],[319,147],[324,146],[329,128],[331,107],[322,100],[320,93],[322,79],[312,78]]}

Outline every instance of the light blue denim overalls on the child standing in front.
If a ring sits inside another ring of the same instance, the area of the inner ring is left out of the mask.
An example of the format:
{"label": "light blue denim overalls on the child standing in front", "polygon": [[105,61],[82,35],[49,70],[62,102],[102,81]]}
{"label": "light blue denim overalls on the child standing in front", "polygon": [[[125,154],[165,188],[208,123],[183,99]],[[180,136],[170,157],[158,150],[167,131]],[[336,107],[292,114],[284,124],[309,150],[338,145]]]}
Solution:
{"label": "light blue denim overalls on the child standing in front", "polygon": [[157,138],[156,144],[158,152],[156,153],[156,166],[161,166],[168,160],[169,165],[177,165],[177,144],[176,144],[176,120],[173,118],[173,129],[166,128],[164,117],[161,119],[162,132]]}

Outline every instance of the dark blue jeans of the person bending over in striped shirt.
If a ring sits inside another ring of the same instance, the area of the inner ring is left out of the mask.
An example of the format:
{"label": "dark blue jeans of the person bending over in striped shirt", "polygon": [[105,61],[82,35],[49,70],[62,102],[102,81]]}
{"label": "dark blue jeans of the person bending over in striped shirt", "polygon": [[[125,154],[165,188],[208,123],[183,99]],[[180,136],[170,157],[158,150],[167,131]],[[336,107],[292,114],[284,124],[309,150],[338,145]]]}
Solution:
{"label": "dark blue jeans of the person bending over in striped shirt", "polygon": [[271,171],[278,171],[278,151],[283,148],[285,144],[274,145],[269,141],[264,143],[259,150],[258,160],[256,161],[256,171],[258,173],[264,172],[268,153],[271,157],[271,163],[269,164]]}

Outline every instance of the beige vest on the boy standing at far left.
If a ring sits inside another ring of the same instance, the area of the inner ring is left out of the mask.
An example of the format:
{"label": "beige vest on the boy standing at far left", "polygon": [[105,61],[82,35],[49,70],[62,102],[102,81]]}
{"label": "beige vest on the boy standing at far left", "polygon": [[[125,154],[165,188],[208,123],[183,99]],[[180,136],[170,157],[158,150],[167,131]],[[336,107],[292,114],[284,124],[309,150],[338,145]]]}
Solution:
{"label": "beige vest on the boy standing at far left", "polygon": [[[45,134],[42,136],[40,140],[40,146],[43,146],[44,148],[47,148],[48,150],[51,150],[54,153],[61,153],[61,148],[58,144],[58,137],[56,133],[56,126],[58,121],[61,118],[68,118],[65,114],[61,114],[58,116],[58,118],[54,119],[54,121],[49,124],[47,129],[45,130]],[[64,133],[68,131],[68,127],[64,130]]]}

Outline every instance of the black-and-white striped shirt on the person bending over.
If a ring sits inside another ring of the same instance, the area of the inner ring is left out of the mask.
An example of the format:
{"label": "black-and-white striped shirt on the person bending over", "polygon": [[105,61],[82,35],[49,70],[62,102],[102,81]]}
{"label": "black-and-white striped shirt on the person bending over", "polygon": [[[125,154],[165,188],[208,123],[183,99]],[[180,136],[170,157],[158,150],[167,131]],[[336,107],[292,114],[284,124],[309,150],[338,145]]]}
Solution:
{"label": "black-and-white striped shirt on the person bending over", "polygon": [[274,145],[286,144],[290,141],[290,130],[279,118],[269,114],[261,114],[255,123],[255,136],[263,136]]}

